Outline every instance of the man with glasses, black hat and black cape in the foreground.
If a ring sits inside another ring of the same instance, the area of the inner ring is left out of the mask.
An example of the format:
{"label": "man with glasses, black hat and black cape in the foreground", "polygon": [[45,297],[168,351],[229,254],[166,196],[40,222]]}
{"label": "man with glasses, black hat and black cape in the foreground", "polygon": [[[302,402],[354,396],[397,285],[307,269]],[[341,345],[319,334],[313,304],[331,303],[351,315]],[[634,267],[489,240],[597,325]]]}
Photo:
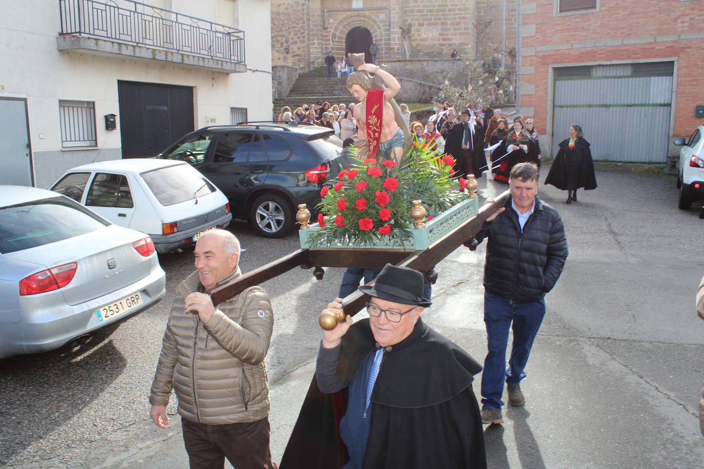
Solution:
{"label": "man with glasses, black hat and black cape in the foreground", "polygon": [[360,290],[370,318],[323,332],[279,468],[486,468],[472,392],[482,367],[420,319],[422,274],[386,264]]}

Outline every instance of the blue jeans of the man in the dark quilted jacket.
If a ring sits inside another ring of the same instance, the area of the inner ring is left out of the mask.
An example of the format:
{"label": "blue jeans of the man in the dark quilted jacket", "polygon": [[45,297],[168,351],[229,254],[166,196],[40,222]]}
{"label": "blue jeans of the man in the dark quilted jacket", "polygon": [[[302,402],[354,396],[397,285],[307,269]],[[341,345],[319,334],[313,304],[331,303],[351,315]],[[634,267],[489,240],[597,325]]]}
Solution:
{"label": "blue jeans of the man in the dark quilted jacket", "polygon": [[[545,316],[545,300],[515,304],[484,293],[484,323],[489,353],[482,372],[482,409],[501,412],[503,383],[517,385],[526,377],[524,368]],[[513,328],[511,358],[506,368],[508,329]]]}

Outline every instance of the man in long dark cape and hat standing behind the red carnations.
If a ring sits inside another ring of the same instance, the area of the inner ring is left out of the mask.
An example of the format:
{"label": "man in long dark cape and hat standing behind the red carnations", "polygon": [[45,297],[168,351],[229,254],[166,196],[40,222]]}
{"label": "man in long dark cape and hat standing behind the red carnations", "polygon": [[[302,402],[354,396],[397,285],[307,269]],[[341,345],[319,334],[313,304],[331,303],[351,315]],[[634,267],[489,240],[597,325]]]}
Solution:
{"label": "man in long dark cape and hat standing behind the red carnations", "polygon": [[448,131],[445,151],[455,158],[455,177],[474,174],[474,177],[479,178],[486,169],[484,134],[471,117],[470,110],[463,110],[460,122]]}

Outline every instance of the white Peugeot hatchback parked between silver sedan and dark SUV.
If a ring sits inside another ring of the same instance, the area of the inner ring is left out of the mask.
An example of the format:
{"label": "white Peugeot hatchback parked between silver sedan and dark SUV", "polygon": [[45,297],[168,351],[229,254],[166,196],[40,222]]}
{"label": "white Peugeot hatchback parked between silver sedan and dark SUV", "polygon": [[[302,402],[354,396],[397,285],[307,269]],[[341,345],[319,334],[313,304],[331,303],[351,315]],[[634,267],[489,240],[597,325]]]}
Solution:
{"label": "white Peugeot hatchback parked between silver sedan and dark SUV", "polygon": [[180,161],[133,158],[83,165],[65,172],[51,191],[148,234],[160,253],[191,245],[204,231],[225,228],[232,219],[225,194]]}

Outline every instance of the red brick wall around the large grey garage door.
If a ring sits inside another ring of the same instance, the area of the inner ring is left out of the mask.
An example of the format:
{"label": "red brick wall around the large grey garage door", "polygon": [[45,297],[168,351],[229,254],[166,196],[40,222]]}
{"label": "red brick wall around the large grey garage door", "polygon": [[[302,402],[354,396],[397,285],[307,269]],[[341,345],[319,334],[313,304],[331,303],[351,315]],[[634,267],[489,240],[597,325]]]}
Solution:
{"label": "red brick wall around the large grey garage door", "polygon": [[[696,59],[704,53],[704,2],[601,0],[599,11],[553,15],[553,0],[520,5],[520,106],[534,114],[540,133],[548,129],[548,69],[551,65],[595,65],[636,60],[675,60],[672,136],[689,136],[702,119],[704,101]],[[673,148],[671,148],[672,152]]]}

